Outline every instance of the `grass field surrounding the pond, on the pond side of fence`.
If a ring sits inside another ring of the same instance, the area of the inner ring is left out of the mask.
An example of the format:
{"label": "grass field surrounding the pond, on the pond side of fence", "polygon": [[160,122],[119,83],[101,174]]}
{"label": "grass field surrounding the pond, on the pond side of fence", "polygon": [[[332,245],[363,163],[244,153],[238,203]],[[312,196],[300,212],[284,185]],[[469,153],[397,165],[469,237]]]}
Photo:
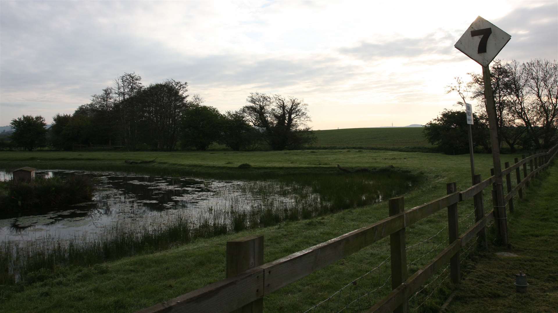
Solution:
{"label": "grass field surrounding the pond, on the pond side of fence", "polygon": [[[512,161],[518,155],[502,155]],[[123,161],[150,160],[156,163],[128,165]],[[492,158],[489,154],[476,155],[477,173],[489,176]],[[239,169],[249,163],[252,168]],[[381,150],[297,150],[297,151],[205,151],[185,153],[71,153],[71,152],[2,152],[0,168],[23,165],[42,169],[127,170],[161,175],[213,175],[220,177],[262,178],[287,173],[336,172],[336,164],[343,167],[387,167],[410,170],[424,177],[422,183],[405,194],[406,208],[411,208],[445,195],[445,184],[457,182],[458,189],[470,185],[468,155],[405,153]],[[490,198],[485,196],[487,206]],[[472,202],[459,206],[460,217],[469,216]],[[90,267],[60,267],[54,274],[32,273],[26,284],[0,286],[0,305],[6,311],[75,312],[75,311],[134,311],[166,301],[185,292],[203,287],[224,278],[225,243],[227,240],[252,234],[264,235],[264,262],[327,241],[341,234],[367,226],[386,218],[387,203],[364,206],[306,221],[283,222],[277,226],[252,229],[235,234],[198,239],[170,250],[127,257]],[[407,229],[407,244],[429,238],[443,229],[447,216],[442,210]],[[464,231],[467,223],[461,224]],[[513,232],[513,228],[510,228]],[[429,250],[431,246],[427,246]],[[420,268],[434,254],[428,255],[410,268]],[[414,253],[414,254],[413,254]],[[408,258],[416,258],[421,251],[410,251]],[[292,283],[266,296],[267,312],[295,312],[309,309],[327,299],[339,288],[370,271],[389,255],[386,239],[330,265],[323,270]],[[387,264],[387,269],[389,265]],[[386,270],[386,266],[384,266]],[[386,275],[384,272],[383,275]],[[385,279],[387,276],[383,276]],[[380,277],[381,278],[381,277]],[[373,278],[376,283],[377,277]],[[380,280],[378,280],[380,281]],[[360,285],[359,285],[360,286]],[[389,284],[353,307],[360,311],[389,291]],[[344,294],[336,305],[343,306],[355,294]],[[436,311],[444,299],[430,301],[425,311]]]}

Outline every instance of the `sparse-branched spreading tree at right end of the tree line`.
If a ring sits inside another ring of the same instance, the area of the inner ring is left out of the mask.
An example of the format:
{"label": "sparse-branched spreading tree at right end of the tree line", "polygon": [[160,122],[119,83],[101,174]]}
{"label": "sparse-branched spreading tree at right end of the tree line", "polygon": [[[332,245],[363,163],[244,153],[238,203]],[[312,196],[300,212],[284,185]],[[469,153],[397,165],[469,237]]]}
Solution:
{"label": "sparse-branched spreading tree at right end of the tree line", "polygon": [[263,134],[273,150],[295,149],[315,140],[307,104],[295,97],[252,92],[242,108],[244,118]]}

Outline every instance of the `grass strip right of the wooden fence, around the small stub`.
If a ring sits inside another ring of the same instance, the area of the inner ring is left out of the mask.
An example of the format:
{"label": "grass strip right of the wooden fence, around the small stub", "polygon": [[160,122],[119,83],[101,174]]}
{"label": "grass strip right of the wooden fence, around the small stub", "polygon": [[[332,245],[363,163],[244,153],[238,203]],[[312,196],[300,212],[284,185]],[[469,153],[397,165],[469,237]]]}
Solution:
{"label": "grass strip right of the wooden fence, around the small stub", "polygon": [[[558,310],[558,167],[536,180],[525,200],[508,212],[510,247],[490,246],[467,270],[447,312],[556,312]],[[500,257],[495,252],[519,257]],[[526,273],[526,294],[515,291],[515,274]]]}

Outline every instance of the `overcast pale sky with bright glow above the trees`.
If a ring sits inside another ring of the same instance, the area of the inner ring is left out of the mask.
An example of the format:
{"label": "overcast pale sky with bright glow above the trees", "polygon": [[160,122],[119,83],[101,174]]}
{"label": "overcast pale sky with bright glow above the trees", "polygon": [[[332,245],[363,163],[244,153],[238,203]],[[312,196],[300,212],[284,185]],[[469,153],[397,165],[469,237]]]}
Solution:
{"label": "overcast pale sky with bright glow above the trees", "polygon": [[481,71],[453,47],[479,15],[512,36],[498,58],[558,58],[557,1],[2,1],[0,126],[50,123],[133,71],[221,111],[298,97],[314,129],[425,124]]}

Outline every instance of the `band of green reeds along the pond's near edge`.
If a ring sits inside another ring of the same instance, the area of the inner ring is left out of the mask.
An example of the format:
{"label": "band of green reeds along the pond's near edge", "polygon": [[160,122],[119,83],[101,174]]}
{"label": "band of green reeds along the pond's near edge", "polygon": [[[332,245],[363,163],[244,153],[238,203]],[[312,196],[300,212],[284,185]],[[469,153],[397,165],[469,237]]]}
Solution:
{"label": "band of green reeds along the pond's near edge", "polygon": [[406,192],[415,180],[408,173],[389,171],[297,174],[242,184],[244,194],[252,197],[249,199],[231,192],[238,187],[225,185],[219,190],[224,201],[207,204],[196,214],[188,209],[154,213],[152,218],[136,222],[114,222],[95,236],[83,233],[71,238],[4,241],[0,244],[0,285],[37,281],[62,266],[91,266],[166,250],[196,238],[275,226],[376,203]]}

